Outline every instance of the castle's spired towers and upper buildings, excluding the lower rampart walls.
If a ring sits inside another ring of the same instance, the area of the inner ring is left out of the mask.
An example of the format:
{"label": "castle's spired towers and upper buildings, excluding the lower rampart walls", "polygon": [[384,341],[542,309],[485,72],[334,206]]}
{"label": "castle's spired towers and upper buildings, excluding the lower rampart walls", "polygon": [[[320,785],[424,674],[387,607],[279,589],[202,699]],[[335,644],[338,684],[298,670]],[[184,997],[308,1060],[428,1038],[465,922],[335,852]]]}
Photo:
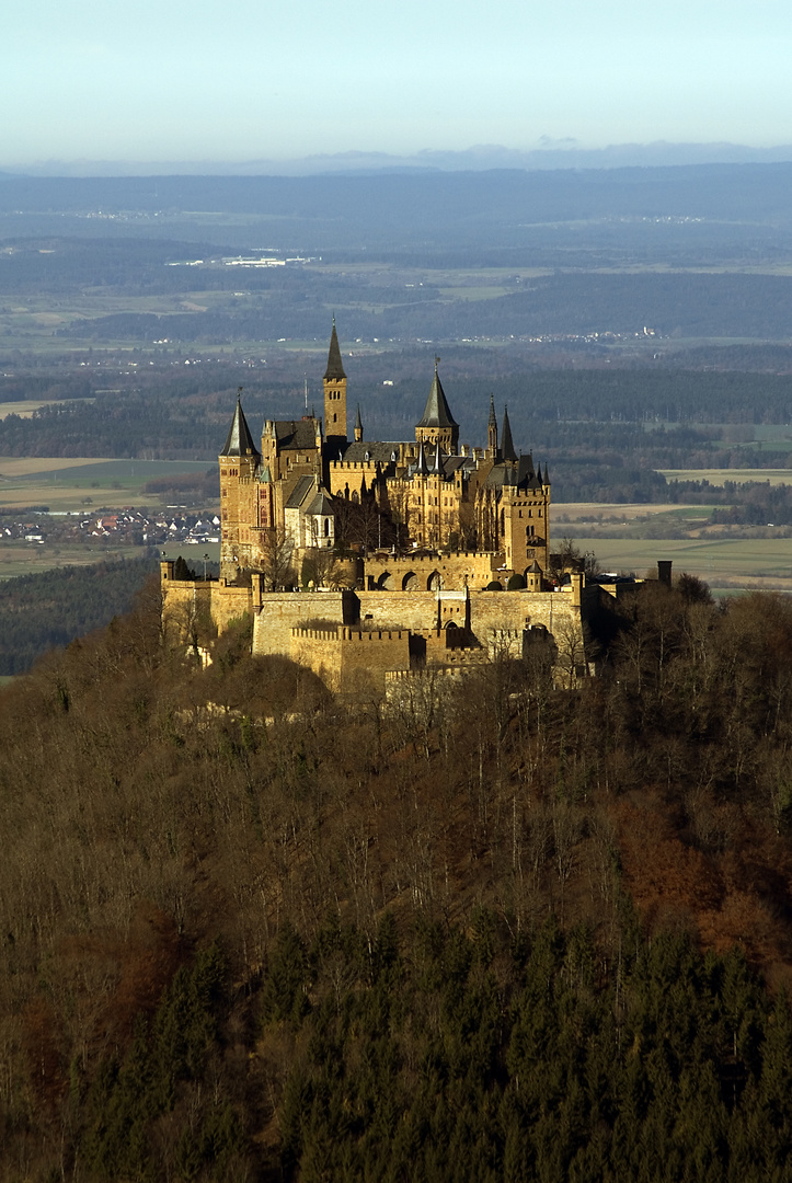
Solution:
{"label": "castle's spired towers and upper buildings, excluding the lower rampart walls", "polygon": [[270,574],[276,542],[285,543],[300,571],[307,552],[350,541],[340,526],[349,509],[366,500],[392,528],[399,550],[498,555],[507,578],[545,573],[547,466],[542,474],[530,454],[517,454],[506,409],[498,435],[491,397],[487,445],[461,446],[437,364],[416,438],[408,441],[365,440],[360,407],[349,439],[347,375],[335,322],[323,379],[324,431],[314,414],[268,419],[259,450],[238,402],[220,453],[220,574]]}

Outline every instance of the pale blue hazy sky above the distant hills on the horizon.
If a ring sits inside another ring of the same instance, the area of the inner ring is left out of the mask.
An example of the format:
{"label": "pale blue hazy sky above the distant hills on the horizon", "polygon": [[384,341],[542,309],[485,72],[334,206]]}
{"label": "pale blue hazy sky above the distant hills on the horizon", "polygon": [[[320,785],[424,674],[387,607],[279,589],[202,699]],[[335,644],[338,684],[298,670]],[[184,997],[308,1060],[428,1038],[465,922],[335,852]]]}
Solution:
{"label": "pale blue hazy sky above the distant hills on the horizon", "polygon": [[6,0],[0,28],[0,167],[792,142],[790,0]]}

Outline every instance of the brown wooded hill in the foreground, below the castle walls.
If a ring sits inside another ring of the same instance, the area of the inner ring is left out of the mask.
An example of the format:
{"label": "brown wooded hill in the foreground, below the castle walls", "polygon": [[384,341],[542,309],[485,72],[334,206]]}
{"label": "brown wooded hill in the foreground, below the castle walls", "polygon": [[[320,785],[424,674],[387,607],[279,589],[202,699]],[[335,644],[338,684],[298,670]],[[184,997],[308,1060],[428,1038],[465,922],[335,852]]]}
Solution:
{"label": "brown wooded hill in the foreground, below the castle walls", "polygon": [[0,696],[9,1181],[783,1181],[792,608],[348,707],[152,586]]}

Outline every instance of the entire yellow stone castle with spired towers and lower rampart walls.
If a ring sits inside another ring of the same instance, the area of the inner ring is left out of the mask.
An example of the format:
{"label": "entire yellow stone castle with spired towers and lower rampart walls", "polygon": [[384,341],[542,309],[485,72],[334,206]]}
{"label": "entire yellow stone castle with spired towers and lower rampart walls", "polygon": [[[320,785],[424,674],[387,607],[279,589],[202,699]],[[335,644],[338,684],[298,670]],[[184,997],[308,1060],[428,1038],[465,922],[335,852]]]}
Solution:
{"label": "entire yellow stone castle with spired towers and lower rampart walls", "polygon": [[253,652],[314,668],[349,697],[399,693],[427,671],[457,672],[550,645],[565,677],[587,672],[584,577],[547,577],[547,467],[498,433],[459,444],[438,374],[410,441],[348,432],[347,375],[333,323],[324,419],[265,420],[256,446],[242,402],[220,452],[219,580],[178,580],[166,608],[219,629],[253,615]]}

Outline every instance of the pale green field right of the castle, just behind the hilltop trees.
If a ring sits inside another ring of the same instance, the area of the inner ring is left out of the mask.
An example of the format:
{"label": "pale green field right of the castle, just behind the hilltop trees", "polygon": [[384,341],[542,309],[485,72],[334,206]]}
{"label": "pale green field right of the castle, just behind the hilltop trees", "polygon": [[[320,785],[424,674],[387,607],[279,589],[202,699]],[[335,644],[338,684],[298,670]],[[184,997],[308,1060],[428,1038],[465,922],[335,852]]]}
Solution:
{"label": "pale green field right of the castle, just behind the hilltop trees", "polygon": [[593,550],[605,571],[644,575],[670,558],[677,575],[697,575],[713,592],[792,592],[792,538],[580,538],[578,545]]}

